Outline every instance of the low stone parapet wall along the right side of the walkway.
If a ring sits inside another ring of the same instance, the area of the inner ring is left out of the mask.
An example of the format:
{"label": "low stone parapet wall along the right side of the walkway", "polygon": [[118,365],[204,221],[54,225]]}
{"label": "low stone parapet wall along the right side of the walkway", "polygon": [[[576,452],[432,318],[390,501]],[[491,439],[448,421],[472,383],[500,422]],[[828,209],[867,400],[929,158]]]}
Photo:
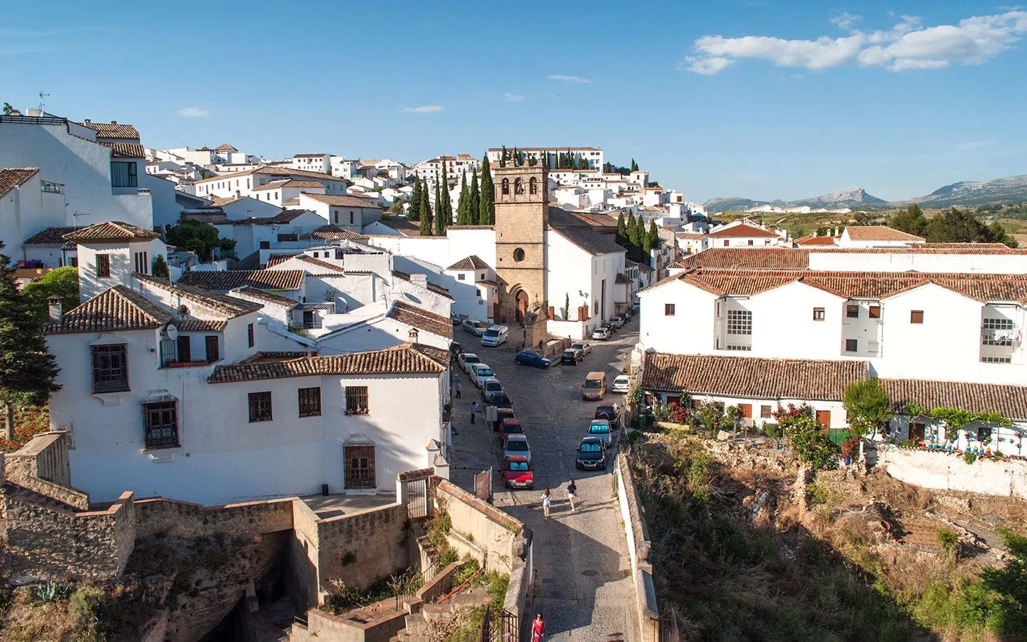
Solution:
{"label": "low stone parapet wall along the right side of the walkway", "polygon": [[617,456],[617,499],[620,517],[624,522],[627,537],[627,553],[632,559],[632,578],[635,583],[636,607],[642,640],[659,642],[659,607],[656,605],[656,588],[652,580],[652,564],[649,562],[649,527],[645,522],[642,502],[639,500],[631,465],[625,455]]}

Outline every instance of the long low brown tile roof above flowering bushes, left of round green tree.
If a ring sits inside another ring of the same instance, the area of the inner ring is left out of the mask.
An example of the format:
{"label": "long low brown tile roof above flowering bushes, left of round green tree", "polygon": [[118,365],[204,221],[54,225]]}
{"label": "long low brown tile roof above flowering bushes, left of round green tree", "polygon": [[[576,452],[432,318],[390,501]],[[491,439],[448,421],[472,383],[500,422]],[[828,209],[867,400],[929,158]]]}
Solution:
{"label": "long low brown tile roof above flowering bushes, left of round green tree", "polygon": [[655,352],[645,355],[641,385],[746,399],[840,401],[845,386],[866,378],[867,363],[861,361]]}

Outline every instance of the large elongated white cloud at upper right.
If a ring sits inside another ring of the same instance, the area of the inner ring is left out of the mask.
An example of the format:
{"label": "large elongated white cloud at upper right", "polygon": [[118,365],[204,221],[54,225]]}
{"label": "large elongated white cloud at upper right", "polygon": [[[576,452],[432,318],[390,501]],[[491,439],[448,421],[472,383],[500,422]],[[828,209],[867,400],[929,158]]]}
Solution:
{"label": "large elongated white cloud at upper right", "polygon": [[739,59],[756,59],[778,67],[810,70],[842,65],[883,67],[889,71],[940,69],[949,65],[982,65],[1011,48],[1027,34],[1027,11],[1006,11],[959,21],[957,25],[923,27],[915,15],[901,15],[891,29],[863,32],[852,29],[859,16],[842,13],[831,22],[849,35],[815,40],[771,36],[702,36],[695,41],[697,55],[679,69],[712,75]]}

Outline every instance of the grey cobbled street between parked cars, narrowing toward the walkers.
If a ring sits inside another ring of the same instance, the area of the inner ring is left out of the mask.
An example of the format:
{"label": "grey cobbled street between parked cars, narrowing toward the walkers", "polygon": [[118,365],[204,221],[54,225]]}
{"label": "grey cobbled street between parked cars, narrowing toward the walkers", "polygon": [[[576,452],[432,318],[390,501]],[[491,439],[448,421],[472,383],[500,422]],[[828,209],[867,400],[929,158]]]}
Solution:
{"label": "grey cobbled street between parked cars, narrowing toward the walkers", "polygon": [[[581,401],[580,386],[592,370],[605,370],[612,383],[637,341],[633,320],[608,342],[594,342],[592,353],[577,367],[554,365],[536,370],[514,363],[516,349],[485,348],[458,334],[465,349],[492,366],[514,401],[514,410],[531,444],[535,471],[534,491],[507,491],[499,474],[498,446],[479,417],[471,426],[467,409],[481,398],[462,374],[463,399],[454,406],[453,482],[471,489],[476,473],[490,466],[494,476],[495,505],[522,520],[534,532],[535,578],[530,612],[541,612],[548,639],[604,642],[637,640],[639,625],[634,607],[635,589],[631,559],[616,499],[613,466],[599,473],[576,471],[574,453],[592,419],[596,402]],[[457,367],[459,371],[459,367]],[[606,401],[622,404],[621,394]],[[615,452],[615,450],[613,451]],[[570,512],[567,483],[577,480],[579,502]],[[555,501],[546,520],[539,499],[550,488]]]}

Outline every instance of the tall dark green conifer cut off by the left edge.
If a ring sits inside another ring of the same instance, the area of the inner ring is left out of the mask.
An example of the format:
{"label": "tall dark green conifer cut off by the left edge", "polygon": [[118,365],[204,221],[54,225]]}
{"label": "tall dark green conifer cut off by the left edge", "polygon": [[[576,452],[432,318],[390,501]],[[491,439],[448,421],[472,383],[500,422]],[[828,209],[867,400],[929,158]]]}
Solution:
{"label": "tall dark green conifer cut off by the left edge", "polygon": [[46,349],[43,324],[33,313],[32,300],[18,292],[9,263],[0,254],[0,405],[8,440],[14,437],[15,407],[43,404],[61,389],[55,382],[61,369]]}

